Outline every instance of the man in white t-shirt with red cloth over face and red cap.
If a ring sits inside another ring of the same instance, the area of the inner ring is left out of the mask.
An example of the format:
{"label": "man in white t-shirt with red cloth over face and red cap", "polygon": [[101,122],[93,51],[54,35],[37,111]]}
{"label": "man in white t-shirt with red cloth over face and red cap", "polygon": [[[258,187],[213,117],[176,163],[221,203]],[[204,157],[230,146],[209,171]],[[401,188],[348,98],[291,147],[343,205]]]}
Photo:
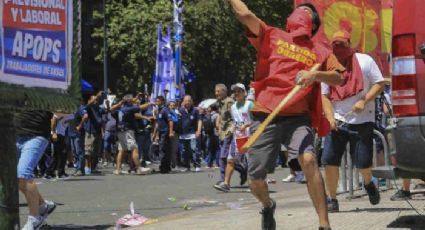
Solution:
{"label": "man in white t-shirt with red cloth over face and red cap", "polygon": [[328,211],[338,212],[336,199],[339,166],[350,143],[350,155],[355,167],[364,178],[369,201],[380,201],[379,191],[372,183],[373,127],[375,97],[384,88],[384,79],[375,61],[366,54],[356,53],[346,31],[334,34],[333,53],[346,68],[345,84],[328,86],[322,83],[322,100],[332,132],[325,139],[322,163],[325,165],[326,188],[329,196]]}

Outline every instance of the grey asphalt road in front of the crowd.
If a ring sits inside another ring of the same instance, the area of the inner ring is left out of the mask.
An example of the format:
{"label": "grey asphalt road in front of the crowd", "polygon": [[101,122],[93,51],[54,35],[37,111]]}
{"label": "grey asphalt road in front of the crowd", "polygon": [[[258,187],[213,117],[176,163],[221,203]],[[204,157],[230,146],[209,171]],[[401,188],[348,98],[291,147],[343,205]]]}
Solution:
{"label": "grey asphalt road in front of the crowd", "polygon": [[[189,214],[201,208],[223,205],[232,208],[255,202],[248,187],[239,186],[238,173],[234,174],[231,192],[222,193],[212,188],[219,178],[218,169],[145,176],[116,176],[112,170],[109,167],[101,170],[102,175],[66,180],[36,179],[45,199],[60,204],[48,219],[51,229],[113,228],[118,218],[130,213],[130,202],[134,203],[136,213],[152,219]],[[305,190],[305,185],[282,184],[280,180],[288,173],[287,169],[278,169],[270,176],[277,180],[270,185],[272,192]],[[22,194],[20,203],[21,223],[24,223],[28,209]]]}

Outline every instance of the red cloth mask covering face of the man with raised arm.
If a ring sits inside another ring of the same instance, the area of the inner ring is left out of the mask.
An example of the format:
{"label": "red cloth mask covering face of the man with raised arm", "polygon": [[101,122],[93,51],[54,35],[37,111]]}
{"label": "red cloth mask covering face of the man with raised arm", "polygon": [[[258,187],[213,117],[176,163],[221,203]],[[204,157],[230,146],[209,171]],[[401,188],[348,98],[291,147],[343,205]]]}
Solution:
{"label": "red cloth mask covering face of the man with raised arm", "polygon": [[292,34],[294,37],[311,37],[312,28],[313,22],[311,15],[301,8],[295,9],[286,22],[286,32]]}

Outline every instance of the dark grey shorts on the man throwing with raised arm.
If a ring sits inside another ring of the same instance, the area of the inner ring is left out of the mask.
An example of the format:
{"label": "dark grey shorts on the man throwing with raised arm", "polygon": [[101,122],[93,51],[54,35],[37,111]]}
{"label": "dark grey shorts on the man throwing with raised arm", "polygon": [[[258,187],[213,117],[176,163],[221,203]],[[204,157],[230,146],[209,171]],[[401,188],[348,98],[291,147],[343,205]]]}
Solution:
{"label": "dark grey shorts on the man throwing with raised arm", "polygon": [[[254,114],[253,132],[265,117]],[[248,150],[249,178],[265,179],[268,173],[274,172],[281,144],[287,147],[290,156],[298,157],[307,152],[314,153],[314,133],[310,125],[308,116],[277,117]]]}

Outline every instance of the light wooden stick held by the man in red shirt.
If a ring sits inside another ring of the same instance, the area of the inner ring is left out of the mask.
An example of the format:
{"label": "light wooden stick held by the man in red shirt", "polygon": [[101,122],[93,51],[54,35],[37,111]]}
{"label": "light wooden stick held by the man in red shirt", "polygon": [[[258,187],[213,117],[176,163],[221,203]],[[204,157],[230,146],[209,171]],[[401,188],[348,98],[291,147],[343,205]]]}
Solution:
{"label": "light wooden stick held by the man in red shirt", "polygon": [[[314,65],[310,71],[317,71],[320,68],[320,64]],[[289,93],[286,95],[285,98],[279,103],[279,105],[267,116],[266,120],[263,121],[263,123],[260,124],[260,126],[255,130],[254,134],[252,134],[251,137],[249,137],[248,141],[242,146],[241,152],[246,152],[260,137],[260,135],[264,132],[266,127],[273,121],[273,119],[279,114],[279,112],[282,110],[283,107],[285,107],[286,104],[290,100],[294,98],[294,96],[301,90],[301,85],[296,85]]]}

